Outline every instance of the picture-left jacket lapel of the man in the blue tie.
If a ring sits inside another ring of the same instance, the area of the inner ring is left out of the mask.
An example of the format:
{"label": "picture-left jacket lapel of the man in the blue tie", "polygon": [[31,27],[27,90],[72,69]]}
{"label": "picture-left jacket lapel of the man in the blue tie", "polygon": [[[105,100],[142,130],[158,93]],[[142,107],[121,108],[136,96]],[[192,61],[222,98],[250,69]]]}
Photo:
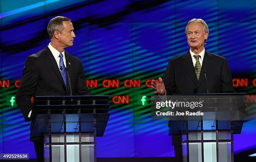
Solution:
{"label": "picture-left jacket lapel of the man in the blue tie", "polygon": [[45,47],[44,53],[45,53],[46,59],[49,61],[52,69],[54,70],[55,74],[59,78],[59,81],[61,82],[62,85],[65,86],[63,78],[62,78],[61,73],[59,71],[59,67],[56,63],[56,60],[55,60],[54,56],[51,53],[51,50],[48,47]]}

